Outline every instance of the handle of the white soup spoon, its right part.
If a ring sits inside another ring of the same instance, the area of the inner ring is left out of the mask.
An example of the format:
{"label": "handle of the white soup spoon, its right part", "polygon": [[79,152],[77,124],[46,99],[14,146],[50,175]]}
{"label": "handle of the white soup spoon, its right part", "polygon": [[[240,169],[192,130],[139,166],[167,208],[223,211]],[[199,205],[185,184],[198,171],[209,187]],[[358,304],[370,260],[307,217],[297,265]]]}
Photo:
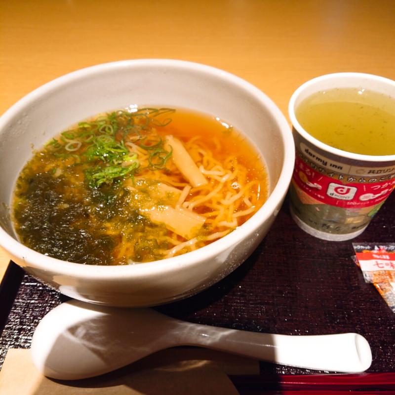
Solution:
{"label": "handle of the white soup spoon, its right part", "polygon": [[[191,325],[186,323],[186,326]],[[357,373],[372,362],[368,342],[356,333],[334,335],[275,335],[195,325],[185,332],[189,345],[203,346],[283,365]],[[198,331],[198,335],[197,335]]]}

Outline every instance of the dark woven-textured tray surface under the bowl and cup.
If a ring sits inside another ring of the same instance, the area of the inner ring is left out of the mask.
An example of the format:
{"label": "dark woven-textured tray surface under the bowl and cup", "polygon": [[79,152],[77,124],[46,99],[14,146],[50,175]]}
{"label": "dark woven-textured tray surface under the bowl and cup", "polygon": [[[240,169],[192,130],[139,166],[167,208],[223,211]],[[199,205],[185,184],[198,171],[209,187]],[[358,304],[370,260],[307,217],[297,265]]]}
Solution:
{"label": "dark woven-textured tray surface under the bowl and cup", "polygon": [[[394,207],[395,194],[353,241],[395,241]],[[372,349],[369,372],[395,371],[395,314],[373,285],[364,282],[352,255],[352,241],[324,241],[302,232],[285,203],[267,237],[234,273],[198,295],[158,310],[192,322],[268,333],[357,332]],[[28,348],[40,319],[65,300],[23,275],[0,337],[0,365],[8,348]],[[262,363],[261,369],[273,374],[309,373],[270,363]]]}

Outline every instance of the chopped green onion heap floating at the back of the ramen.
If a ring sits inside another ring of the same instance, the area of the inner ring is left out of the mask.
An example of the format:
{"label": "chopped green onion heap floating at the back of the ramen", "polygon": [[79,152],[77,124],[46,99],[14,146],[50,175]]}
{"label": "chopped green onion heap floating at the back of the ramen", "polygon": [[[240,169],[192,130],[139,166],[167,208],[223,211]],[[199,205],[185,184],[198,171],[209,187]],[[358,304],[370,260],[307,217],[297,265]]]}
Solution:
{"label": "chopped green onion heap floating at the back of the ramen", "polygon": [[[148,167],[162,169],[172,152],[164,149],[163,141],[144,138],[144,131],[151,126],[165,126],[171,122],[167,114],[170,108],[141,108],[134,112],[115,111],[101,115],[93,121],[79,122],[78,126],[61,133],[59,140],[51,140],[47,146],[59,158],[74,159],[74,164],[90,163],[85,171],[86,181],[92,188],[112,184],[122,177],[133,177],[140,163],[137,154],[125,146],[128,137],[148,153]],[[69,164],[68,164],[69,165]],[[92,169],[92,165],[94,166]]]}

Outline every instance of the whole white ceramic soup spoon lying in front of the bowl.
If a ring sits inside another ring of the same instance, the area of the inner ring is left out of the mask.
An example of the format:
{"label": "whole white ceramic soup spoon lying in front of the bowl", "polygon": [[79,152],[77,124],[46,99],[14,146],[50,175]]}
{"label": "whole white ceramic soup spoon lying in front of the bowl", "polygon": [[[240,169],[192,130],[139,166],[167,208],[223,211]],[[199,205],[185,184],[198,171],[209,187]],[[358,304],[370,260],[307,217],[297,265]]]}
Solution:
{"label": "whole white ceramic soup spoon lying in front of the bowl", "polygon": [[181,321],[151,309],[102,307],[72,300],[49,312],[32,341],[45,376],[75,380],[125,366],[168,347],[202,346],[284,365],[356,373],[372,354],[356,333],[288,336]]}

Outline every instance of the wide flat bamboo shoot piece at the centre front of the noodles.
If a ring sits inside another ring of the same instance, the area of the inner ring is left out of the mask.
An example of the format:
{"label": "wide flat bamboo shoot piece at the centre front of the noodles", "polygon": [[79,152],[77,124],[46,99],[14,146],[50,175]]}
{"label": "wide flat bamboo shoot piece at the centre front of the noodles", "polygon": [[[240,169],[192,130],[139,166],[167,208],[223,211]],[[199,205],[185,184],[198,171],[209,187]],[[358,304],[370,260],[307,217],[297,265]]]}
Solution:
{"label": "wide flat bamboo shoot piece at the centre front of the noodles", "polygon": [[142,213],[156,224],[164,224],[167,229],[187,240],[195,237],[206,218],[182,207],[155,207]]}

